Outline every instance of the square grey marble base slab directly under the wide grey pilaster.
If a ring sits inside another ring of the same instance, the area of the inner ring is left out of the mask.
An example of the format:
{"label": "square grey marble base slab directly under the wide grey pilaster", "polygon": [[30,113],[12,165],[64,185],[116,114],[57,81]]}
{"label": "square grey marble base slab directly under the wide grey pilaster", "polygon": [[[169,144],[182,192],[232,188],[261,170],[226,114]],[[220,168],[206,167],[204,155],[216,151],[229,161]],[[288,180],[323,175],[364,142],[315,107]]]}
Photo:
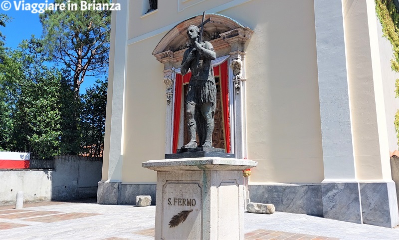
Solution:
{"label": "square grey marble base slab directly under the wide grey pilaster", "polygon": [[362,224],[359,188],[359,183],[323,182],[324,218]]}

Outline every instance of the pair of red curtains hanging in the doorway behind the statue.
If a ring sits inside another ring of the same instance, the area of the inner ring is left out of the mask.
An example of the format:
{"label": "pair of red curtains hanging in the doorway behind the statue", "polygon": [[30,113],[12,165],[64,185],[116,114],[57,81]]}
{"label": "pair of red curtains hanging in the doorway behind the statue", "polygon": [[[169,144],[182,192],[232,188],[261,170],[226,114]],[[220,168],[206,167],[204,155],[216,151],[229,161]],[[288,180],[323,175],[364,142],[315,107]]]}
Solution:
{"label": "pair of red curtains hanging in the doorway behind the statue", "polygon": [[[227,61],[222,63],[220,66],[213,67],[213,72],[218,75],[220,69],[220,87],[221,87],[221,99],[222,99],[222,112],[223,112],[223,123],[224,123],[224,139],[226,152],[230,153],[230,128],[228,121],[228,75],[227,75]],[[173,120],[173,153],[176,153],[178,142],[179,142],[179,128],[180,128],[180,114],[182,105],[182,92],[183,84],[188,83],[191,78],[191,72],[182,77],[181,74],[176,74],[176,85],[175,85],[175,113]]]}

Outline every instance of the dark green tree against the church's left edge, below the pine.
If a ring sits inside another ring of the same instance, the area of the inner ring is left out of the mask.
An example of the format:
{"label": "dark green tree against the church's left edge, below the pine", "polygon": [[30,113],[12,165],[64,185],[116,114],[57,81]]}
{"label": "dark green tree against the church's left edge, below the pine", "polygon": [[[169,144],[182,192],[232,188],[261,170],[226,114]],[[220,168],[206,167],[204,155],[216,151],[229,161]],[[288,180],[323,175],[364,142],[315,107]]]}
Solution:
{"label": "dark green tree against the church's left edge, below the pine", "polygon": [[102,156],[104,149],[105,111],[107,105],[107,81],[97,80],[82,96],[82,135],[85,155]]}

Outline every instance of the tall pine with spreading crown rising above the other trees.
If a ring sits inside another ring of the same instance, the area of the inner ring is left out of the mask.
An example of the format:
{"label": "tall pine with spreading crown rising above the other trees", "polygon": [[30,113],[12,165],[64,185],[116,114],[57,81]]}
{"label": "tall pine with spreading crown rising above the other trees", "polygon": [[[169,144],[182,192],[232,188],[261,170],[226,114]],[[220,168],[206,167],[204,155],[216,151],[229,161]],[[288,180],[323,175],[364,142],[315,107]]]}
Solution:
{"label": "tall pine with spreading crown rising above the other trees", "polygon": [[[71,0],[71,3],[80,4],[80,0]],[[85,76],[108,70],[111,11],[46,11],[40,14],[40,21],[50,56],[64,63],[73,73],[74,97],[77,99]]]}

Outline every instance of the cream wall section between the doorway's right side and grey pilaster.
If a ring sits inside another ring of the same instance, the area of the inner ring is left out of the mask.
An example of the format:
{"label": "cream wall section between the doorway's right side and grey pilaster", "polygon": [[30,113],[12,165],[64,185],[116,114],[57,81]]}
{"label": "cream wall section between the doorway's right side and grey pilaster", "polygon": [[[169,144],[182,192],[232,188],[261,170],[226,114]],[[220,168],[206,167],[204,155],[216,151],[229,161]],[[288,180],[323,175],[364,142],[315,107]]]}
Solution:
{"label": "cream wall section between the doorway's right side and grey pilaster", "polygon": [[251,183],[324,179],[313,8],[311,0],[252,0],[220,12],[254,30],[246,48],[248,159],[258,162]]}

